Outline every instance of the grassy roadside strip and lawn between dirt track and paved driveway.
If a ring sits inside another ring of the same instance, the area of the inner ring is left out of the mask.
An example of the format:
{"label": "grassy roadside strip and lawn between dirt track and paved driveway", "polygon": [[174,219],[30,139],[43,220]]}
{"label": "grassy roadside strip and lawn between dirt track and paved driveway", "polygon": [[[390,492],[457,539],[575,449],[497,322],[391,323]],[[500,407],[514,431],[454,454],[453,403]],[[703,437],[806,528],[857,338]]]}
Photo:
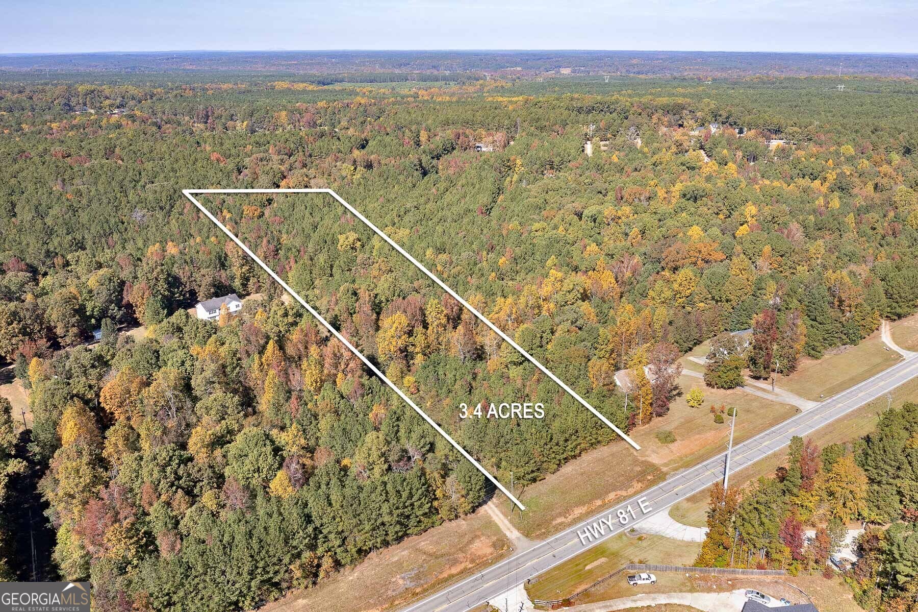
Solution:
{"label": "grassy roadside strip and lawn between dirt track and paved driveway", "polygon": [[[755,436],[796,411],[788,404],[769,402],[744,391],[716,389],[704,389],[704,406],[691,408],[685,402],[685,394],[692,387],[703,389],[704,383],[683,375],[679,384],[683,393],[674,400],[669,414],[631,433],[642,447],[640,452],[635,453],[631,447],[616,443],[569,461],[521,493],[521,502],[528,509],[522,516],[514,513],[511,518],[514,526],[527,538],[543,538],[661,480],[667,473],[720,452],[730,436],[730,426],[714,423],[709,410],[711,403],[743,407],[742,414],[746,418],[737,421],[735,439],[738,441]],[[675,442],[666,444],[657,439],[656,434],[665,430],[673,432]],[[627,469],[610,470],[610,466],[627,466]],[[572,483],[576,486],[571,486]],[[509,503],[498,507],[507,513]]]}

